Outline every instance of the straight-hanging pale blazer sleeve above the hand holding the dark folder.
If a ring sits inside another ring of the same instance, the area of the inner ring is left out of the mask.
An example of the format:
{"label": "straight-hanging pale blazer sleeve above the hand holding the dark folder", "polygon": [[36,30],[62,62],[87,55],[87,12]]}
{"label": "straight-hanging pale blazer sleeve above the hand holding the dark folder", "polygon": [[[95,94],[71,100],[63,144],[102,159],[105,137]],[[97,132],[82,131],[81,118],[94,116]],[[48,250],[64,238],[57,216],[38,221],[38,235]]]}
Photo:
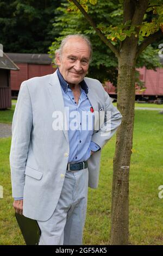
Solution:
{"label": "straight-hanging pale blazer sleeve above the hand holding the dark folder", "polygon": [[12,139],[10,149],[10,169],[12,197],[23,197],[25,168],[28,156],[30,133],[32,130],[32,104],[26,82],[18,93],[14,116],[12,119]]}

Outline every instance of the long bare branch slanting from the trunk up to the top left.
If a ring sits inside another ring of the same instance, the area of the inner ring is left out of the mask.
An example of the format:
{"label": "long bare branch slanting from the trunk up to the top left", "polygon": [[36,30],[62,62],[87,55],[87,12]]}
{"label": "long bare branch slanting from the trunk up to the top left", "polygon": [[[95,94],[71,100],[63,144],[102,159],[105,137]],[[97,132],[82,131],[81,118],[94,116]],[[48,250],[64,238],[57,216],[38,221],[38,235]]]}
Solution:
{"label": "long bare branch slanting from the trunk up to the top left", "polygon": [[95,29],[97,35],[101,38],[101,40],[107,45],[112,52],[115,53],[117,57],[119,57],[120,53],[118,52],[117,48],[111,44],[111,42],[105,37],[105,35],[101,32],[100,29],[96,27],[95,22],[91,19],[91,17],[86,13],[82,5],[78,3],[77,0],[72,0],[72,2],[78,7],[81,13],[84,15],[85,19],[90,23],[90,25]]}

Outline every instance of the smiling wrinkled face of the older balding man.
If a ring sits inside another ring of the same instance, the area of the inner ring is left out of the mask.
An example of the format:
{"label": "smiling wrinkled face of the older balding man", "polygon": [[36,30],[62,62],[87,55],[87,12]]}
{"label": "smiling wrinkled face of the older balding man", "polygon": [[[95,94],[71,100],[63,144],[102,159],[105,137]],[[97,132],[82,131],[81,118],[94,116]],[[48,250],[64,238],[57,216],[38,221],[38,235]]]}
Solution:
{"label": "smiling wrinkled face of the older balding man", "polygon": [[61,75],[70,85],[79,84],[89,68],[90,48],[82,38],[70,38],[57,54],[56,60]]}

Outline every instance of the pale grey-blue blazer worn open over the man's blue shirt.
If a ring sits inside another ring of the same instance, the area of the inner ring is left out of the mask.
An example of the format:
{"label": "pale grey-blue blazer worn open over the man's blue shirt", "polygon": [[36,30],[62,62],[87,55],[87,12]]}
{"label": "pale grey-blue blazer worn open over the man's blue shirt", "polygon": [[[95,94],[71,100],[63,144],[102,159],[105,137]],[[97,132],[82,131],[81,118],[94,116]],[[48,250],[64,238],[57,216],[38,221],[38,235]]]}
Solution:
{"label": "pale grey-blue blazer worn open over the man's blue shirt", "polygon": [[[102,84],[84,78],[87,94],[95,111],[111,111],[111,132],[104,119],[92,135],[101,149],[121,124],[122,115],[110,101]],[[46,221],[58,203],[68,162],[69,143],[66,130],[52,129],[54,111],[64,113],[64,100],[57,72],[34,77],[21,84],[12,120],[10,169],[12,196],[23,197],[23,215]],[[89,186],[97,188],[101,150],[88,160]]]}

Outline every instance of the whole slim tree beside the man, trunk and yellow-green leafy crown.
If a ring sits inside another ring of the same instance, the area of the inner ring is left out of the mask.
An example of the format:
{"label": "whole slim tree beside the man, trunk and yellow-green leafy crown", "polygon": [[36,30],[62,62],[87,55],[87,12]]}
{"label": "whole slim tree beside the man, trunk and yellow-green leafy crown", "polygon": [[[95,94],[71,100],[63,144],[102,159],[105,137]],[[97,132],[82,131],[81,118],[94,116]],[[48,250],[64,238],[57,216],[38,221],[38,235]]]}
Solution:
{"label": "whole slim tree beside the man, trunk and yellow-green leafy crown", "polygon": [[[140,54],[148,45],[162,39],[162,1],[120,0],[119,8],[123,13],[123,20],[120,22],[117,17],[116,25],[110,25],[109,22],[107,24],[105,17],[103,17],[104,22],[99,22],[96,15],[91,17],[91,14],[87,13],[90,4],[95,5],[96,13],[101,1],[71,0],[68,2],[70,5],[67,11],[78,12],[79,9],[118,61],[117,107],[123,119],[116,135],[113,166],[111,244],[126,245],[129,232],[129,167],[134,129],[135,67]],[[117,3],[117,1],[109,2]]]}

